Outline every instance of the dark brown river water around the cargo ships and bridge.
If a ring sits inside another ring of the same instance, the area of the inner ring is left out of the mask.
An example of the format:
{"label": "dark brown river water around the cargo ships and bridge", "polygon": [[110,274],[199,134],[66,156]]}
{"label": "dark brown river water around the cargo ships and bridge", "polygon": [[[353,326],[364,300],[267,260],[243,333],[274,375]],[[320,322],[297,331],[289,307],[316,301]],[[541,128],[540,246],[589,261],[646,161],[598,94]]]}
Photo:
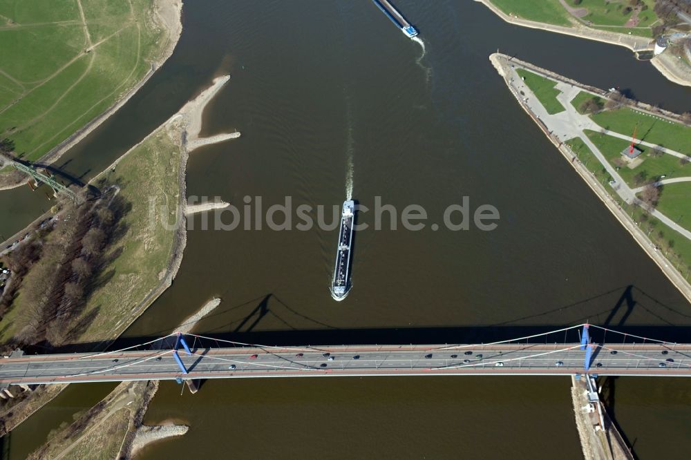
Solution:
{"label": "dark brown river water around the cargo ships and bridge", "polygon": [[[185,4],[176,52],[61,160],[70,174],[100,171],[231,73],[202,135],[243,136],[191,155],[188,195],[238,206],[261,196],[264,210],[290,196],[294,208],[331,209],[352,189],[370,208],[377,197],[399,214],[420,204],[429,219],[421,231],[392,231],[387,217],[385,230],[357,233],[352,291],[335,303],[337,230],[202,231],[197,217],[173,286],[126,336],[170,332],[220,296],[197,330],[254,343],[489,341],[584,320],[688,341],[688,303],[515,103],[488,56],[499,48],[676,111],[690,106],[691,90],[624,48],[509,26],[475,2],[397,5],[421,31],[424,55],[366,1]],[[444,228],[444,209],[464,196],[472,210],[496,207],[498,228]],[[359,221],[372,226],[375,215]],[[685,458],[685,379],[620,378],[614,388],[614,414],[639,457]],[[163,383],[146,422],[182,421],[190,432],[142,458],[581,458],[568,378],[252,379],[180,390]],[[29,442],[26,427],[11,435],[10,458],[30,450],[15,447]]]}

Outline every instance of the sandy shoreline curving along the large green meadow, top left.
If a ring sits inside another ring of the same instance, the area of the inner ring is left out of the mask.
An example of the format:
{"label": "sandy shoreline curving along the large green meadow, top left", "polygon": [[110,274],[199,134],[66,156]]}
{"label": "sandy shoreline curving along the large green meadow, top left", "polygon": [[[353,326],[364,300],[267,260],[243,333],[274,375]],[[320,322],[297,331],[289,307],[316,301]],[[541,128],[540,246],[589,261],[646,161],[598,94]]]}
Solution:
{"label": "sandy shoreline curving along the large green meadow, top left", "polygon": [[[151,68],[149,72],[140,79],[134,86],[127,90],[124,94],[120,95],[117,100],[106,110],[97,115],[97,117],[91,119],[82,128],[79,128],[75,133],[70,135],[66,140],[57,144],[45,153],[41,155],[35,163],[40,163],[44,165],[53,164],[59,158],[70,150],[73,146],[84,140],[86,136],[91,134],[96,128],[101,126],[111,115],[117,112],[126,102],[135,95],[135,93],[149,81],[151,76],[158,70],[165,61],[171,55],[173,55],[173,50],[175,50],[178,41],[180,40],[180,35],[182,35],[182,0],[154,0],[153,1],[153,15],[151,15],[153,28],[160,28],[164,32],[162,40],[164,44],[161,46],[160,55],[151,61]],[[9,171],[0,174],[0,191],[14,189],[18,186],[22,186],[26,183],[26,177],[18,172]]]}

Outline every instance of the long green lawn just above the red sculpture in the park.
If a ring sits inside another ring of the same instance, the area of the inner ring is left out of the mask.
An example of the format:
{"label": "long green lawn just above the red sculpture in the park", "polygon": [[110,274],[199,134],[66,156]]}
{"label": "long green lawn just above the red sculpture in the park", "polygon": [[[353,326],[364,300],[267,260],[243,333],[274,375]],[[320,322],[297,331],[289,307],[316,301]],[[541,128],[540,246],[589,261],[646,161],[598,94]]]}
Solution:
{"label": "long green lawn just above the red sculpture in the park", "polygon": [[603,128],[623,135],[632,135],[636,128],[638,139],[691,155],[691,127],[681,123],[628,107],[596,113],[591,115],[591,119]]}

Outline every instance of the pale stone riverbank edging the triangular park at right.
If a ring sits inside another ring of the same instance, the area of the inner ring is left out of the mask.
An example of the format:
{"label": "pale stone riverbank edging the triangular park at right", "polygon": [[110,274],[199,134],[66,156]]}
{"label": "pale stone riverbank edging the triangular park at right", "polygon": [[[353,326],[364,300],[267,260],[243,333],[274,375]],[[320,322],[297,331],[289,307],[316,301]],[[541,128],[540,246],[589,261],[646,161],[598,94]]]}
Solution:
{"label": "pale stone riverbank edging the triangular park at right", "polygon": [[[578,175],[580,175],[581,178],[585,181],[585,183],[590,187],[592,191],[600,198],[600,201],[605,204],[605,207],[609,209],[609,211],[614,215],[616,220],[619,221],[619,223],[631,234],[631,236],[634,238],[634,240],[638,243],[638,245],[647,253],[647,255],[656,263],[656,265],[661,269],[663,274],[672,282],[674,287],[676,289],[679,289],[679,292],[691,303],[691,285],[689,282],[682,276],[682,274],[672,265],[670,260],[663,256],[662,251],[659,251],[656,249],[656,245],[645,235],[643,230],[638,227],[636,222],[632,220],[632,218],[627,215],[627,213],[624,211],[624,209],[621,207],[621,204],[619,204],[613,197],[612,195],[609,194],[607,189],[605,189],[605,186],[603,184],[600,184],[597,178],[594,177],[594,175],[587,169],[587,167],[581,163],[580,161],[576,161],[577,157],[574,154],[573,151],[571,151],[571,148],[565,143],[562,142],[556,135],[553,135],[551,131],[547,128],[545,125],[545,122],[543,122],[536,113],[533,113],[531,108],[528,106],[527,102],[522,99],[522,97],[518,94],[517,90],[513,88],[511,84],[511,77],[509,77],[509,73],[511,72],[511,69],[509,68],[510,64],[509,59],[511,59],[512,63],[515,63],[513,65],[520,65],[524,66],[525,68],[529,68],[531,70],[535,70],[539,73],[543,73],[545,75],[555,75],[548,70],[539,68],[537,66],[533,66],[532,64],[529,64],[527,62],[520,61],[519,59],[511,58],[507,55],[502,55],[500,53],[493,53],[489,57],[492,65],[494,68],[498,71],[498,73],[504,78],[504,82],[507,84],[509,89],[511,90],[511,93],[515,97],[515,99],[518,101],[518,104],[524,109],[524,111],[533,119],[534,122],[540,127],[540,130],[542,130],[543,133],[547,136],[547,138],[550,140],[554,146],[562,153],[562,155],[565,157],[565,159],[571,164],[571,166],[576,170]],[[582,84],[578,84],[578,82],[574,82],[573,80],[566,79],[565,77],[560,77],[564,82],[568,82],[571,85],[578,86],[578,88],[581,88],[583,90],[586,90],[589,93],[594,93],[594,94],[599,94],[602,95],[603,91],[602,90],[597,90],[596,88],[592,88],[590,86],[585,86]]]}

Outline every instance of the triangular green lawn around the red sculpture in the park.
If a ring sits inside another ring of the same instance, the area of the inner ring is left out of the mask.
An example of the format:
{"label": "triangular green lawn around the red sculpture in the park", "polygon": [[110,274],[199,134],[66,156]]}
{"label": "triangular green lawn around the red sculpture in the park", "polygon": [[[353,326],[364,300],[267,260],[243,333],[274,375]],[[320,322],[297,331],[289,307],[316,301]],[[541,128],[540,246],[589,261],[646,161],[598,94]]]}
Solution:
{"label": "triangular green lawn around the red sculpture in the park", "polygon": [[665,175],[667,178],[691,175],[691,166],[688,164],[682,166],[679,158],[667,153],[660,157],[653,157],[650,155],[652,148],[641,145],[636,146],[636,148],[643,151],[640,156],[643,158],[643,162],[634,169],[630,169],[628,166],[619,167],[615,159],[622,156],[621,151],[630,146],[630,142],[596,131],[585,130],[584,133],[598,147],[600,152],[605,155],[607,161],[615,168],[618,168],[617,172],[621,175],[621,178],[632,188],[641,186],[641,184],[636,184],[634,181],[634,176],[639,173],[643,173],[646,179],[645,182],[652,182],[661,175]]}

